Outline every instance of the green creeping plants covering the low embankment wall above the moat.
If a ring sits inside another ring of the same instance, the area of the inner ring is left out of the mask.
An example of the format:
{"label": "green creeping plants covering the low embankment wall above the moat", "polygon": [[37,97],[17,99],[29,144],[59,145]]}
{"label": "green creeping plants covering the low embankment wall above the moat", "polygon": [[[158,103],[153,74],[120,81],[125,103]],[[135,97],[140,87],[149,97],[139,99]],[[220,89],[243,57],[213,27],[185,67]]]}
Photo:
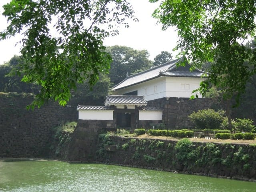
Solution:
{"label": "green creeping plants covering the low embankment wall above the moat", "polygon": [[187,172],[218,172],[221,167],[227,176],[233,169],[239,170],[239,174],[250,174],[248,171],[255,169],[252,167],[256,149],[254,144],[201,143],[192,142],[188,138],[178,141],[154,138],[118,139],[110,134],[100,135],[99,143],[102,146],[98,150],[99,157],[109,159],[111,153],[106,148],[112,145],[116,146],[118,159],[138,166],[150,167],[157,164],[158,168],[170,170],[182,167]]}

